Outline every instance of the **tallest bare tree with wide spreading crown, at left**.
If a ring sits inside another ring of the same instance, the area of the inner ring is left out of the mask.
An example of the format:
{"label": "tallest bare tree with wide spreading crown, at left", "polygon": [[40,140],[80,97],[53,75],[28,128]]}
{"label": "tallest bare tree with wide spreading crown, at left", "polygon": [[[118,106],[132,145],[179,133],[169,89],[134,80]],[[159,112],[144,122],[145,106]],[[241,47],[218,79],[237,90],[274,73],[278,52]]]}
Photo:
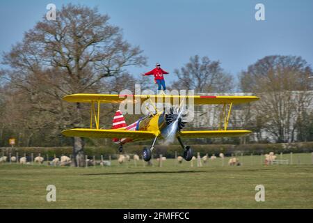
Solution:
{"label": "tallest bare tree with wide spreading crown, at left", "polygon": [[[56,21],[43,17],[25,33],[22,43],[3,56],[3,63],[12,68],[11,80],[29,92],[33,106],[63,116],[61,128],[80,127],[84,120],[83,105],[68,109],[61,101],[63,95],[95,93],[106,77],[145,64],[141,49],[123,40],[120,29],[108,21],[109,16],[99,14],[97,8],[68,4],[57,12]],[[42,102],[44,95],[49,102]],[[83,163],[79,137],[74,137],[73,155]]]}

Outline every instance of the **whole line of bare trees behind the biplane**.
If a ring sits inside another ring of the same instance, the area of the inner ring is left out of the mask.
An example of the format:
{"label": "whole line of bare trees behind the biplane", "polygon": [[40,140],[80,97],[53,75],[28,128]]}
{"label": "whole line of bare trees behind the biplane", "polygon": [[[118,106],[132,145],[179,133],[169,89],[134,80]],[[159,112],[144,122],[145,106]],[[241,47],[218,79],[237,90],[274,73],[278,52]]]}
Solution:
{"label": "whole line of bare trees behind the biplane", "polygon": [[[58,10],[56,21],[45,16],[26,31],[22,41],[3,52],[0,70],[0,146],[15,137],[18,146],[74,145],[74,157],[83,159],[85,144],[109,144],[106,139],[63,137],[61,131],[88,126],[89,107],[61,100],[72,93],[110,93],[122,89],[153,88],[131,74],[129,66],[147,66],[139,46],[109,23],[97,8],[68,4]],[[172,89],[195,93],[234,91],[255,93],[262,100],[243,105],[241,124],[234,127],[256,132],[266,141],[269,132],[277,142],[312,141],[312,68],[300,56],[265,56],[243,70],[236,79],[220,61],[191,56],[175,69]],[[138,76],[138,75],[137,75]],[[121,81],[127,80],[127,81]],[[101,124],[111,128],[117,105],[103,105]],[[127,116],[129,121],[137,116]]]}

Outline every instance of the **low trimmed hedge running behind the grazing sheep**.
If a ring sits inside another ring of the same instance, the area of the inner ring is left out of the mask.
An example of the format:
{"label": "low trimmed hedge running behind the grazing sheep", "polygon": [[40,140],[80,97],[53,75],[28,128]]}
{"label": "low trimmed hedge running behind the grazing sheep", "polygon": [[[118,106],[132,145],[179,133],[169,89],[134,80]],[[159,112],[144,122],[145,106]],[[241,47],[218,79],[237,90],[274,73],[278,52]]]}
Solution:
{"label": "low trimmed hedge running behind the grazing sheep", "polygon": [[[137,145],[125,145],[124,146],[125,153],[128,154],[141,154],[141,151],[144,146]],[[149,147],[147,145],[147,147]],[[200,152],[201,155],[205,155],[208,153],[209,155],[219,153],[224,153],[226,156],[232,155],[232,153],[243,153],[243,155],[259,155],[265,153],[310,153],[313,152],[313,141],[310,142],[300,142],[300,143],[289,143],[289,144],[241,144],[241,145],[230,145],[230,144],[207,144],[207,145],[191,145],[193,151]],[[19,156],[30,155],[31,153],[34,156],[40,153],[42,156],[49,155],[49,157],[53,157],[56,155],[60,157],[61,155],[70,155],[72,154],[72,147],[1,147],[0,156],[3,154],[8,155],[12,153],[15,155],[17,152]],[[111,146],[100,146],[100,147],[86,147],[85,153],[88,157],[92,157],[93,155],[99,157],[100,155],[104,155],[104,158],[107,159],[109,155],[112,155],[112,158],[117,157],[117,148]],[[157,145],[154,147],[154,155],[162,154],[166,157],[175,157],[175,151],[177,155],[182,155],[182,148],[179,145],[170,145],[163,146]]]}

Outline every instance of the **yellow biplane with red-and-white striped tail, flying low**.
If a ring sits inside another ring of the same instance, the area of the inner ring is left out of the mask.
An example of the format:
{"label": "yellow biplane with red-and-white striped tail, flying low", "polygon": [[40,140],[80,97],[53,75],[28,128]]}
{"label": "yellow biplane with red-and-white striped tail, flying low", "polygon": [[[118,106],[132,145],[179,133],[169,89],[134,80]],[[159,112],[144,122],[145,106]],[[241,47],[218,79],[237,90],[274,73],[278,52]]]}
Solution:
{"label": "yellow biplane with red-and-white striped tail, flying low", "polygon": [[[166,139],[172,142],[175,138],[184,149],[184,159],[189,161],[193,157],[193,150],[185,146],[182,138],[208,138],[208,137],[242,137],[250,134],[249,130],[227,130],[232,106],[259,100],[255,96],[209,96],[209,95],[111,95],[111,94],[86,94],[77,93],[67,95],[63,98],[67,102],[90,103],[90,128],[74,128],[64,130],[62,133],[67,137],[100,137],[111,138],[119,144],[119,151],[122,152],[122,145],[129,141],[152,140],[150,148],[143,148],[143,160],[151,159],[154,144],[157,139]],[[179,107],[174,107],[175,102]],[[104,130],[99,128],[99,112],[101,103],[143,103],[148,102],[154,107],[154,112],[139,118],[138,121],[126,125],[125,118],[118,110],[113,117],[112,129]],[[166,112],[158,111],[155,103],[170,103],[170,109]],[[223,112],[220,116],[218,130],[196,130],[184,131],[184,109],[182,102],[193,105],[223,105]],[[96,109],[97,105],[97,109]],[[97,110],[97,111],[96,111]]]}

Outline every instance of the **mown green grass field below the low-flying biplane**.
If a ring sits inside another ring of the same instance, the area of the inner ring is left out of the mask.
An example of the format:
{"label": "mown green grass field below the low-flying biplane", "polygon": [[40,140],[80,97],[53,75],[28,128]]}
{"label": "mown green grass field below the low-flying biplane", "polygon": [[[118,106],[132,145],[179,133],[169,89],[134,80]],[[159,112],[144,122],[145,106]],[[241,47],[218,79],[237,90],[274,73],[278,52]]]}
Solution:
{"label": "mown green grass field below the low-flying biplane", "polygon": [[[278,158],[280,156],[278,155]],[[283,155],[289,159],[289,155]],[[228,158],[202,167],[190,162],[143,167],[143,161],[111,167],[47,167],[0,164],[0,208],[313,208],[311,153],[294,154],[293,164],[262,165],[262,157],[244,156],[239,167]],[[265,201],[255,201],[264,185]],[[46,201],[47,185],[56,185],[56,202]]]}

